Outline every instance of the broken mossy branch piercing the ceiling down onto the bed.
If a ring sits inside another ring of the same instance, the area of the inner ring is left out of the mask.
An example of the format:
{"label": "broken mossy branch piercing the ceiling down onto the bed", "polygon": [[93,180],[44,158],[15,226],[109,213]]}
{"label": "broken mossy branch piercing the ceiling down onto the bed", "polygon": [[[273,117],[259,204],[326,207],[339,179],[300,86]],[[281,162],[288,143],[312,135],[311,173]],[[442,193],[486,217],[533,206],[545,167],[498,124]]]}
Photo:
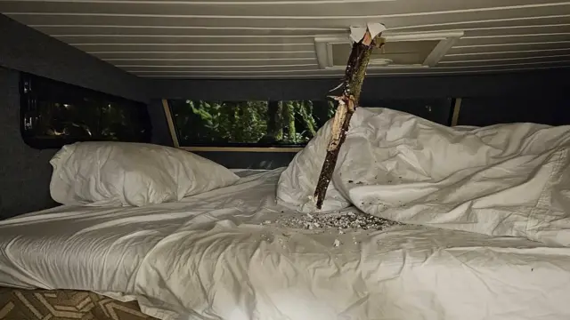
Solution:
{"label": "broken mossy branch piercing the ceiling down onto the bed", "polygon": [[372,50],[376,47],[381,48],[384,45],[384,39],[378,36],[372,38],[370,31],[367,29],[362,40],[353,44],[352,51],[346,64],[345,77],[342,84],[334,90],[342,88],[339,96],[330,98],[337,100],[338,108],[332,120],[330,130],[330,142],[327,148],[327,155],[322,164],[321,174],[314,190],[314,198],[316,199],[317,209],[322,209],[322,203],[329,188],[332,173],[337,164],[338,152],[346,139],[346,132],[350,119],[354,114],[354,110],[358,107],[360,92],[364,76],[366,76],[366,68],[371,60]]}

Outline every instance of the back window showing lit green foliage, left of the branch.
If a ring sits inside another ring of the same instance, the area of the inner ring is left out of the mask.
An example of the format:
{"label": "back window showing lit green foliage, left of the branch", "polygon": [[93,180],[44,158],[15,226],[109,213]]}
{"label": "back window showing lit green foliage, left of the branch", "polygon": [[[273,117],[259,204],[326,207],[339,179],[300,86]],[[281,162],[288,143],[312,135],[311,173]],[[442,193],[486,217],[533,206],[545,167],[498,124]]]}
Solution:
{"label": "back window showing lit green foliage, left of the branch", "polygon": [[181,145],[304,146],[334,116],[332,101],[171,100]]}

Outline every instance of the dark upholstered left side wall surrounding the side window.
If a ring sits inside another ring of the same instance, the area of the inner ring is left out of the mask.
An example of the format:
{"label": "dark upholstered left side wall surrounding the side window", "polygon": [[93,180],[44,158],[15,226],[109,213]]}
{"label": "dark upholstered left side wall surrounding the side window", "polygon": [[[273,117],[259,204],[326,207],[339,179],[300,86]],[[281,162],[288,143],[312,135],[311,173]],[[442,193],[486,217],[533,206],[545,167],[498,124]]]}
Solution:
{"label": "dark upholstered left side wall surrounding the side window", "polygon": [[20,137],[19,77],[25,71],[131,100],[148,101],[148,84],[0,14],[0,219],[53,205],[50,158]]}

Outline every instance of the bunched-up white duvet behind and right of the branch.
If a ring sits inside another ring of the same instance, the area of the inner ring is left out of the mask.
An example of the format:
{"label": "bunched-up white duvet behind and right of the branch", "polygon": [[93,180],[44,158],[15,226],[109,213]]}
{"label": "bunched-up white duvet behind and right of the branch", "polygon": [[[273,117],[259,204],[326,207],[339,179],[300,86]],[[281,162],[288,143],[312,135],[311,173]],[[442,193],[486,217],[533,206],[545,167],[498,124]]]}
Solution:
{"label": "bunched-up white duvet behind and right of the branch", "polygon": [[[314,212],[325,124],[281,176],[281,204]],[[570,245],[570,126],[455,128],[358,108],[322,211],[355,205],[388,220]]]}

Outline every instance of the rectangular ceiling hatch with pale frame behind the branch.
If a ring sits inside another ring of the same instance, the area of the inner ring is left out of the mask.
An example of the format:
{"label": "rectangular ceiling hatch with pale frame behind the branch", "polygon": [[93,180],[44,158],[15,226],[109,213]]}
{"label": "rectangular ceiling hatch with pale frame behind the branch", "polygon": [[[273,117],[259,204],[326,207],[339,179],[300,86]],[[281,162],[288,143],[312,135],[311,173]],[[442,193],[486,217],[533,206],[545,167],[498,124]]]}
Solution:
{"label": "rectangular ceiling hatch with pale frame behind the branch", "polygon": [[[382,49],[372,52],[369,68],[430,68],[463,36],[463,31],[388,34]],[[346,36],[316,36],[317,60],[322,69],[345,69],[351,51]]]}

